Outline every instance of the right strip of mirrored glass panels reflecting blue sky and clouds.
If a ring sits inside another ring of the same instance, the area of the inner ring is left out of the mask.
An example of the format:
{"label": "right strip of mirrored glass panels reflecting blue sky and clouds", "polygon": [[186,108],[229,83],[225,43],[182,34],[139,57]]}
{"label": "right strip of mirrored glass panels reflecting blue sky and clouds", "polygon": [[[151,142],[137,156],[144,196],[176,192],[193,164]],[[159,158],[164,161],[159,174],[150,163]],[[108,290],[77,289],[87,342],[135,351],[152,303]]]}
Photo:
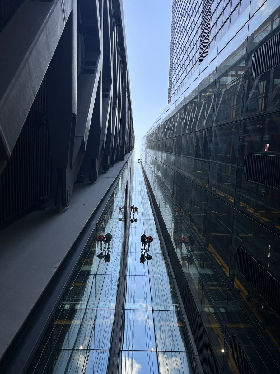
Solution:
{"label": "right strip of mirrored glass panels reflecting blue sky and clouds", "polygon": [[[139,209],[137,223],[131,224],[128,243],[124,340],[119,374],[187,374],[184,322],[138,164],[134,171],[134,186],[132,203]],[[170,216],[173,208],[166,204],[162,213]],[[143,233],[153,237],[149,260],[146,258],[148,252],[141,255],[140,236]]]}

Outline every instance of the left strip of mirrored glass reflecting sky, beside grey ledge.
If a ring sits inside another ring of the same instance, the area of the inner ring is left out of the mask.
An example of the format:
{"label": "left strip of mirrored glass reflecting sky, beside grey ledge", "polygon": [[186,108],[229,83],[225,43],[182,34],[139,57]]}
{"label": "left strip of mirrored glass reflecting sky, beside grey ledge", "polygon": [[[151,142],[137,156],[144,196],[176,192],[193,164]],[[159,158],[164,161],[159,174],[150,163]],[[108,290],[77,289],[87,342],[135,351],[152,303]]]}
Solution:
{"label": "left strip of mirrored glass reflecting sky, beside grey ledge", "polygon": [[[126,173],[126,170],[125,170]],[[126,176],[121,176],[68,283],[29,372],[106,373],[123,250]],[[110,233],[105,244],[96,240]],[[101,248],[100,248],[101,247]],[[109,251],[108,251],[109,247]]]}

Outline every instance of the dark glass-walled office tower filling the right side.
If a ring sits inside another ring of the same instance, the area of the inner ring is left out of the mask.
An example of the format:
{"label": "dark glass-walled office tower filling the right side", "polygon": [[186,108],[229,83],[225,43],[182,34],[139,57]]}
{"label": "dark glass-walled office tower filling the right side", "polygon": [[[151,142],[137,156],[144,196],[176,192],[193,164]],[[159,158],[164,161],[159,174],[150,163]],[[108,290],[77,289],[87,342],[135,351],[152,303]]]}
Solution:
{"label": "dark glass-walled office tower filling the right side", "polygon": [[173,1],[171,32],[169,104],[141,158],[193,370],[279,373],[279,1]]}

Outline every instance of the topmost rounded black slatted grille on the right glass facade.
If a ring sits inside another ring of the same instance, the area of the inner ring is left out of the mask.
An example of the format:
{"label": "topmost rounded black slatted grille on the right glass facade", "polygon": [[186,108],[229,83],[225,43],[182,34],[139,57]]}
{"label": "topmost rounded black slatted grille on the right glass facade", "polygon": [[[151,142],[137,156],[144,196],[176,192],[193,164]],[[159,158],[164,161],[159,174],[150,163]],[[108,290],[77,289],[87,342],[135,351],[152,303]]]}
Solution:
{"label": "topmost rounded black slatted grille on the right glass facade", "polygon": [[258,47],[252,58],[252,77],[256,78],[280,64],[280,33]]}

